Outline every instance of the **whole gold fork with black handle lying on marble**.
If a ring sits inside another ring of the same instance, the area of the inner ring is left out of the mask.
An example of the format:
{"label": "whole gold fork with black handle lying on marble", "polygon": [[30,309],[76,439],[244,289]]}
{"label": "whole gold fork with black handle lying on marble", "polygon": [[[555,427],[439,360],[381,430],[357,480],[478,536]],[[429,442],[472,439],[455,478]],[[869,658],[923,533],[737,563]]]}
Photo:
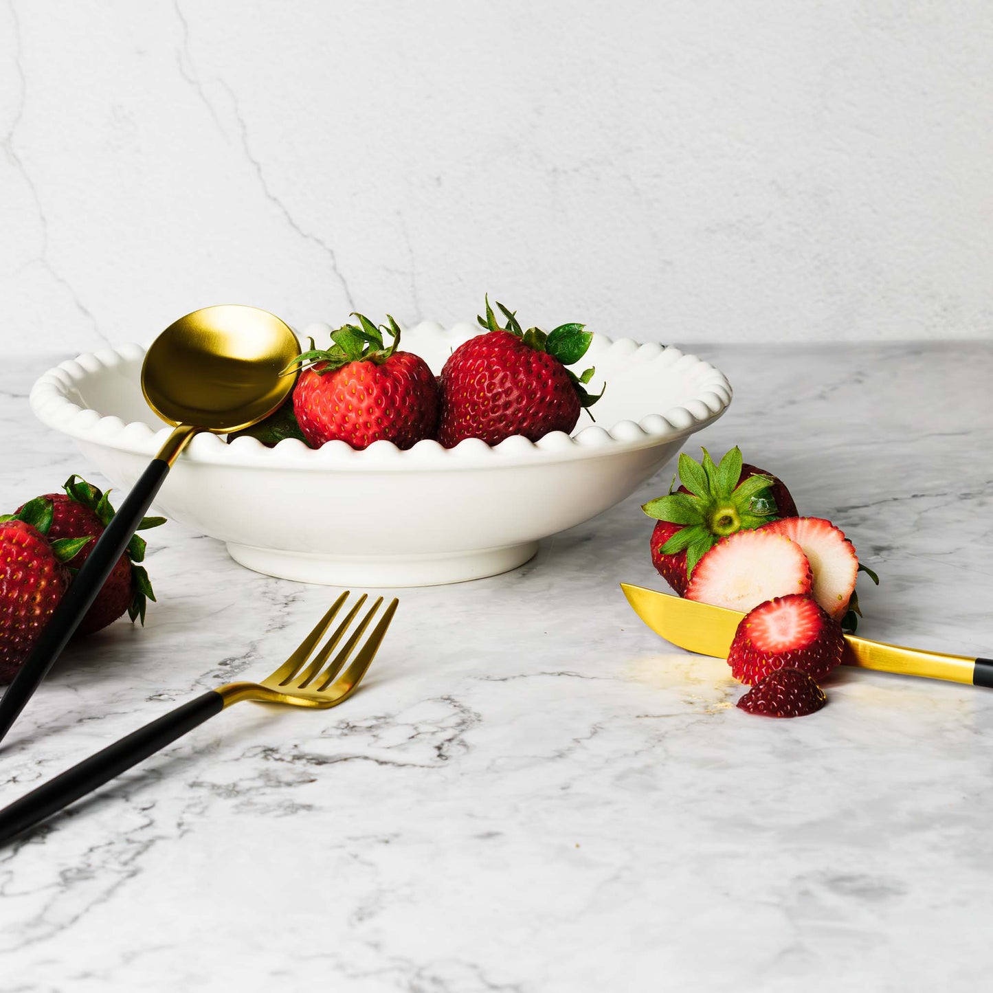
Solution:
{"label": "whole gold fork with black handle lying on marble", "polygon": [[[151,724],[146,724],[0,810],[0,845],[10,841],[27,828],[34,827],[57,810],[69,806],[97,786],[136,766],[188,731],[203,724],[214,714],[219,714],[224,707],[229,707],[239,700],[286,703],[294,707],[318,709],[336,707],[344,703],[355,693],[355,689],[372,663],[397,607],[396,600],[390,602],[373,628],[372,634],[359,646],[362,635],[365,634],[366,628],[382,604],[382,597],[378,597],[355,626],[355,630],[342,648],[334,658],[331,658],[331,653],[342,638],[345,638],[362,604],[365,603],[366,596],[362,594],[345,616],[345,620],[339,624],[324,647],[308,664],[311,652],[327,634],[350,595],[348,591],[343,593],[331,605],[331,609],[321,618],[314,630],[300,642],[296,651],[260,683],[227,683],[218,686],[217,689],[208,690],[203,696],[171,710]],[[352,658],[356,647],[358,651]],[[352,658],[351,662],[349,662],[350,658]],[[349,662],[348,668],[345,667],[347,662]]]}

